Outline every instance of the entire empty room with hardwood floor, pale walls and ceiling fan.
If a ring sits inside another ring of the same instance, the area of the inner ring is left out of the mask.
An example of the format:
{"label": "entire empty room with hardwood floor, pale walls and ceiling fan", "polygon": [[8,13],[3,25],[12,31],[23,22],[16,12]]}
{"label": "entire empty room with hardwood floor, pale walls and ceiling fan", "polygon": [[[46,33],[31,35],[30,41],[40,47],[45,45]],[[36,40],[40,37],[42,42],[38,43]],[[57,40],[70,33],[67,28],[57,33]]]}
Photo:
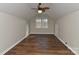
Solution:
{"label": "entire empty room with hardwood floor, pale walls and ceiling fan", "polygon": [[78,55],[79,3],[0,3],[0,55]]}

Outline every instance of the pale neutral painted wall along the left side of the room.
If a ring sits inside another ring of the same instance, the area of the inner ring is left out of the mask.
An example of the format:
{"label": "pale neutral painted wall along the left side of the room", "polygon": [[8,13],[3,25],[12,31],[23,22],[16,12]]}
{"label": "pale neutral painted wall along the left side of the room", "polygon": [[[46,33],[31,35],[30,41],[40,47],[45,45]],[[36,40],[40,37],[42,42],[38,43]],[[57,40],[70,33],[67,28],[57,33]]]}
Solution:
{"label": "pale neutral painted wall along the left side of the room", "polygon": [[26,20],[0,12],[0,53],[21,40],[26,31]]}

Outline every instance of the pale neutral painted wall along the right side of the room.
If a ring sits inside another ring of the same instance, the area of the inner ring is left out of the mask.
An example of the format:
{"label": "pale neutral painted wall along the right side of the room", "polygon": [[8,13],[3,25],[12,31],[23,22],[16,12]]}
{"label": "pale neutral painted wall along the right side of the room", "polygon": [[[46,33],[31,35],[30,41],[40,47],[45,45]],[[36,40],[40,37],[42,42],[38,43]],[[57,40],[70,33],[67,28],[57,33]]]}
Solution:
{"label": "pale neutral painted wall along the right side of the room", "polygon": [[55,26],[56,36],[79,54],[79,11],[58,19]]}

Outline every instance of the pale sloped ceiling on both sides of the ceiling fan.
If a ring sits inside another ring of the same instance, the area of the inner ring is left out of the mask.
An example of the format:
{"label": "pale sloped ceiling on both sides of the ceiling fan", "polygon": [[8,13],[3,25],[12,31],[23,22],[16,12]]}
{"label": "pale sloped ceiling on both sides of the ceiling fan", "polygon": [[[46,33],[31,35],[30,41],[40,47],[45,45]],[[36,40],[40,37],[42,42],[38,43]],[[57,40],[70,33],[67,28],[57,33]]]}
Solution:
{"label": "pale sloped ceiling on both sides of the ceiling fan", "polygon": [[[66,14],[79,10],[79,3],[44,3],[49,6],[46,13],[53,19],[60,18]],[[5,12],[23,19],[30,19],[36,14],[37,3],[0,3],[0,12]]]}

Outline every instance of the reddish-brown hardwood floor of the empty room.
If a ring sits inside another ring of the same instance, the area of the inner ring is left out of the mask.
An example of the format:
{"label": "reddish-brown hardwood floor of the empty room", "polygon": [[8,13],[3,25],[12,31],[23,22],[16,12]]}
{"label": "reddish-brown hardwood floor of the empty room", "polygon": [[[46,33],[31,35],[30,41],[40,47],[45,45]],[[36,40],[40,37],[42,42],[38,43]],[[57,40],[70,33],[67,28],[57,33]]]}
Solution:
{"label": "reddish-brown hardwood floor of the empty room", "polygon": [[54,35],[31,34],[5,55],[74,55]]}

